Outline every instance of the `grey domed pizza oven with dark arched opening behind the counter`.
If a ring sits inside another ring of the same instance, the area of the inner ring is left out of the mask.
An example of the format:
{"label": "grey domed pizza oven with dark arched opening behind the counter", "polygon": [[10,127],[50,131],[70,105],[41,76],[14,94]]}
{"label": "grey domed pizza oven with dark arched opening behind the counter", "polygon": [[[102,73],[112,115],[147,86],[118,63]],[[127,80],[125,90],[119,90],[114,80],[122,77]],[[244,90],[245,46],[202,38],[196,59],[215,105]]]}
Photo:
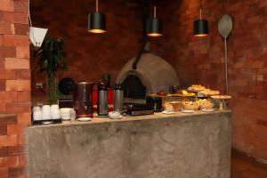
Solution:
{"label": "grey domed pizza oven with dark arched opening behind the counter", "polygon": [[116,81],[123,84],[125,98],[145,99],[160,90],[167,92],[170,85],[180,85],[174,68],[157,55],[142,53],[136,69],[133,69],[134,60],[125,64]]}

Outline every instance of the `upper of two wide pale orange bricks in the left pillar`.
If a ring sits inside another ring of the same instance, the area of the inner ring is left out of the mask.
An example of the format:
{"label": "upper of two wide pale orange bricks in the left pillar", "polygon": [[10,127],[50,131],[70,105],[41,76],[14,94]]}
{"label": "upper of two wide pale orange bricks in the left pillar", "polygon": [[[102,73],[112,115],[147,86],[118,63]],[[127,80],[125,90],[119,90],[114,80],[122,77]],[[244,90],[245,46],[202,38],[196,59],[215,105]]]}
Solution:
{"label": "upper of two wide pale orange bricks in the left pillar", "polygon": [[6,58],[4,63],[5,69],[29,69],[28,59]]}

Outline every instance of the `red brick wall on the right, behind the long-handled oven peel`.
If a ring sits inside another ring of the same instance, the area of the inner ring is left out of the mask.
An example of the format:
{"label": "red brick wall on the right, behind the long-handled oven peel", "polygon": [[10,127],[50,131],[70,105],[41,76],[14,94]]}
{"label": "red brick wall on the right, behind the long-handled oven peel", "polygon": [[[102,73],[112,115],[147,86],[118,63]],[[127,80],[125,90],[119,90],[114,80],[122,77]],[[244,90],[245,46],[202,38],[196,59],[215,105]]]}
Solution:
{"label": "red brick wall on the right, behind the long-handled oven peel", "polygon": [[[224,2],[224,4],[222,4]],[[231,14],[234,27],[229,38],[229,90],[233,96],[232,146],[267,159],[267,2],[203,1],[210,36],[192,36],[193,20],[199,17],[198,0],[169,0],[158,12],[165,36],[152,50],[168,59],[182,85],[202,84],[223,92],[224,48],[217,22]]]}

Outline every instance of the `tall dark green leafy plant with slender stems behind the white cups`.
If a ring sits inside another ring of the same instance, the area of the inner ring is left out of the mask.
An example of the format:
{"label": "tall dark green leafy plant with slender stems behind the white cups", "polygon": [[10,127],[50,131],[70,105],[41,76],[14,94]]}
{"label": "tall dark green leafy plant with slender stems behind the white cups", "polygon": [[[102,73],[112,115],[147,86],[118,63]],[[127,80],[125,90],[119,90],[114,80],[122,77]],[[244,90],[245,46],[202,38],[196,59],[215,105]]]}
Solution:
{"label": "tall dark green leafy plant with slender stems behind the white cups", "polygon": [[46,93],[48,104],[57,103],[57,72],[67,69],[65,41],[62,37],[47,37],[36,50],[38,73],[46,74]]}

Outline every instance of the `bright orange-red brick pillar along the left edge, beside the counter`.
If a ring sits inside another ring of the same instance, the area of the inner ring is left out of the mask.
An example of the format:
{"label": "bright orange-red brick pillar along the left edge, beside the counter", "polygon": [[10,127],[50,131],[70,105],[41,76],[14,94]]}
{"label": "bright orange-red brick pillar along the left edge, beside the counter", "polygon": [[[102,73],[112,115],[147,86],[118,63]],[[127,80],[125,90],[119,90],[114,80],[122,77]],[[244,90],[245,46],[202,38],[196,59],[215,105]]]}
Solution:
{"label": "bright orange-red brick pillar along the left edge, beside the counter", "polygon": [[28,0],[0,0],[0,177],[26,177],[30,124]]}

